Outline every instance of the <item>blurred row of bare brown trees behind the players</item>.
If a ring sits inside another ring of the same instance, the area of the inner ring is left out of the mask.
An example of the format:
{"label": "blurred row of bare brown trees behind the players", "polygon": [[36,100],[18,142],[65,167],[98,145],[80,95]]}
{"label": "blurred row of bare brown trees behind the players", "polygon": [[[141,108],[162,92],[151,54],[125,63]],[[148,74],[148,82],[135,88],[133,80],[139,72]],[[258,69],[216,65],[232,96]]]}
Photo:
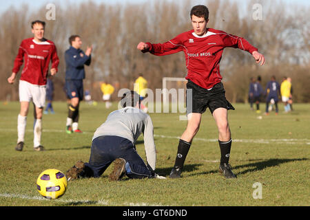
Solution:
{"label": "blurred row of bare brown trees behind the players", "polygon": [[[254,4],[262,6],[262,20],[253,18]],[[30,22],[45,20],[47,39],[54,41],[60,58],[59,73],[54,77],[56,100],[65,100],[64,53],[68,38],[79,34],[83,47],[94,45],[92,65],[85,67],[85,89],[95,100],[101,99],[100,83],[112,83],[116,89],[132,89],[134,80],[143,73],[151,89],[161,88],[164,76],[185,77],[183,53],[164,57],[143,55],[136,50],[139,41],[163,43],[191,30],[189,12],[192,0],[148,1],[147,3],[106,4],[87,1],[56,5],[56,20],[46,21],[46,8],[34,11],[23,5],[0,14],[1,93],[0,99],[18,100],[18,83],[8,85],[14,58],[21,41],[31,37]],[[205,1],[209,8],[209,28],[242,36],[265,55],[266,65],[258,67],[247,52],[225,49],[221,74],[232,102],[247,102],[249,78],[262,76],[262,85],[275,75],[293,79],[294,100],[310,102],[309,89],[309,6],[289,6],[281,1],[251,0],[247,5],[236,1]],[[276,8],[276,10],[274,10]],[[146,10],[147,9],[147,10]],[[85,49],[84,48],[84,49]],[[83,49],[83,48],[82,48]],[[20,73],[19,73],[20,74]],[[114,92],[114,96],[117,91]]]}

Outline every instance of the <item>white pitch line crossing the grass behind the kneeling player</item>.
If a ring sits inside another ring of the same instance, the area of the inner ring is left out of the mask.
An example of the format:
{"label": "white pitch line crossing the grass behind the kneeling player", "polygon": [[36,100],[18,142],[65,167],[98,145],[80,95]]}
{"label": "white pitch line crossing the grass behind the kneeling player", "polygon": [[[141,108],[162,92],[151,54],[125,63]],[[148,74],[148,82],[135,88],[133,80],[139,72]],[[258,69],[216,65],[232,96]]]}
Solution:
{"label": "white pitch line crossing the grass behind the kneeling player", "polygon": [[[0,131],[12,131],[17,132],[17,129],[0,129]],[[26,130],[27,132],[33,132],[32,129]],[[65,130],[57,130],[57,129],[43,129],[43,132],[57,132],[57,133],[65,133]],[[83,131],[82,134],[92,134],[93,132]],[[81,135],[81,134],[79,134]],[[169,135],[156,135],[154,137],[161,137],[161,138],[171,138],[171,139],[180,139],[178,136],[169,136]],[[207,139],[202,137],[194,137],[194,141],[202,141],[202,142],[218,142],[218,139]],[[233,139],[234,142],[240,143],[256,143],[256,144],[310,144],[309,139]]]}

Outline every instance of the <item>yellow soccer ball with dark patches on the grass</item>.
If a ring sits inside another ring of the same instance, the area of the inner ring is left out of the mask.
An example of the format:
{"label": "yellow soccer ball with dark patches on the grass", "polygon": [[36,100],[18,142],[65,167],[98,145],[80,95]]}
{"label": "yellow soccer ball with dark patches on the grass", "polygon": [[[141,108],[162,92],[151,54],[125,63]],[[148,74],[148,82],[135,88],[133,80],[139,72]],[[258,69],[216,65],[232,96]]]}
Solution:
{"label": "yellow soccer ball with dark patches on the grass", "polygon": [[67,177],[56,169],[44,170],[37,179],[37,190],[46,199],[58,199],[67,190]]}

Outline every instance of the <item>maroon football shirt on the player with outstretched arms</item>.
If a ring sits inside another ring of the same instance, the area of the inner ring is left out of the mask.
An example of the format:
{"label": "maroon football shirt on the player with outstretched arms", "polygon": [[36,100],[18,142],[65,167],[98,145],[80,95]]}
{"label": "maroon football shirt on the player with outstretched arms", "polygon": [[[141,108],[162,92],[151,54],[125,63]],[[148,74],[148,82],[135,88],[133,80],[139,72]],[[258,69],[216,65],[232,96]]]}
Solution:
{"label": "maroon football shirt on the player with outstretched arms", "polygon": [[156,56],[174,54],[183,51],[187,66],[187,80],[205,89],[211,89],[220,83],[220,59],[225,47],[235,47],[249,53],[257,51],[257,48],[249,44],[239,36],[227,34],[220,30],[207,29],[207,33],[198,36],[194,30],[179,34],[174,39],[163,44],[147,42],[150,52]]}

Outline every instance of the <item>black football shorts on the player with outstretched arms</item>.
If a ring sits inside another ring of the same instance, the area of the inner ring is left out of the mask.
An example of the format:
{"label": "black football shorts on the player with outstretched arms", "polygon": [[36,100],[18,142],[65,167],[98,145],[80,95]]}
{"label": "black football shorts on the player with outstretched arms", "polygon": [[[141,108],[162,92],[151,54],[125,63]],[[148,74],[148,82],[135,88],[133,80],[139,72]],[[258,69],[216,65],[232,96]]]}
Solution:
{"label": "black football shorts on the player with outstretched arms", "polygon": [[196,85],[191,80],[188,80],[186,87],[187,114],[204,113],[208,107],[211,113],[218,108],[235,110],[235,108],[225,98],[223,83],[218,83],[214,85],[212,89],[208,90]]}

